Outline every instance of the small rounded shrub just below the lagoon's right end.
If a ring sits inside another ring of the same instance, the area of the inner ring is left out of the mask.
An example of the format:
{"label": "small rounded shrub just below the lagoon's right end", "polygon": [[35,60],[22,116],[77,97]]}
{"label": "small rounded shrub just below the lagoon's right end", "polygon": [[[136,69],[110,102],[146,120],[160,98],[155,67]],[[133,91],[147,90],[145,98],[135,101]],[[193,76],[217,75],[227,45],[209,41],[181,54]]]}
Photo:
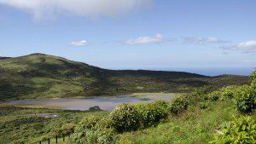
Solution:
{"label": "small rounded shrub just below the lagoon's right end", "polygon": [[179,114],[184,110],[187,110],[188,106],[189,106],[189,102],[185,100],[185,98],[176,97],[172,99],[169,109],[172,114]]}

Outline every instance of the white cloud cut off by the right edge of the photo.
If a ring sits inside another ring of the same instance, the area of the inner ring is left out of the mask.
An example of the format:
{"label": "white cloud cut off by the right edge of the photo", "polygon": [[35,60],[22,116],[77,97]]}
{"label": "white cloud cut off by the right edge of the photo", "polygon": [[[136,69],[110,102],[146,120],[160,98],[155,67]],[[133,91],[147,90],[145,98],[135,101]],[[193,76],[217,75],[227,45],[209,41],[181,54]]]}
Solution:
{"label": "white cloud cut off by the right edge of the photo", "polygon": [[256,52],[256,41],[251,40],[251,41],[241,42],[241,43],[232,45],[230,47],[224,47],[224,49],[236,50],[244,53],[254,53]]}

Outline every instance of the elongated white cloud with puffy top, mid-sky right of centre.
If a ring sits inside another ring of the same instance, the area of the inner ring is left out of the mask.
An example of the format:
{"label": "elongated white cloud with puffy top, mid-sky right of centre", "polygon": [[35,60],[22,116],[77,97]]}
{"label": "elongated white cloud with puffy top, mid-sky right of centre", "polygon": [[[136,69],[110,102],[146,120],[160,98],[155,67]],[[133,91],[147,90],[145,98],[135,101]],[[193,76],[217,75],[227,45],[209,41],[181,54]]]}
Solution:
{"label": "elongated white cloud with puffy top, mid-sky right of centre", "polygon": [[148,44],[148,43],[163,43],[166,41],[174,41],[175,38],[165,39],[161,34],[155,34],[152,37],[137,37],[125,40],[123,43],[133,44]]}

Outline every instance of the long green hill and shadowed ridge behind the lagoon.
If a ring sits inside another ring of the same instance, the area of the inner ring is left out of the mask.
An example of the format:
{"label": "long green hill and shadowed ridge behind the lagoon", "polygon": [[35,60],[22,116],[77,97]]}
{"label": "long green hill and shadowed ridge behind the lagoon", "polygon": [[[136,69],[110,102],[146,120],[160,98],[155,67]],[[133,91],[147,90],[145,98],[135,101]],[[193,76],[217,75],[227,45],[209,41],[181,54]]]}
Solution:
{"label": "long green hill and shadowed ridge behind the lagoon", "polygon": [[189,72],[113,71],[61,57],[32,54],[0,58],[1,101],[119,95],[134,92],[188,92],[203,85],[247,84],[246,76],[207,77]]}

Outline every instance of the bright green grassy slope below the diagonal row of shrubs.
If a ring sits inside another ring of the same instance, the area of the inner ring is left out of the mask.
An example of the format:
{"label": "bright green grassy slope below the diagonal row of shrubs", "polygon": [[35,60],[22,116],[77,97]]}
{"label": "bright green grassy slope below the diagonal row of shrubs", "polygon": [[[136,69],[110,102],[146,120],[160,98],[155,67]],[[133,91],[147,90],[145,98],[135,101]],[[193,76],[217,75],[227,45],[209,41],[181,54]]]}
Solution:
{"label": "bright green grassy slope below the diagonal row of shrubs", "polygon": [[[232,100],[208,101],[208,108],[189,106],[179,115],[170,115],[165,123],[155,127],[127,132],[120,135],[119,143],[130,144],[206,144],[213,141],[214,131],[225,121],[232,120],[232,115],[239,115]],[[256,118],[256,114],[253,115]]]}

